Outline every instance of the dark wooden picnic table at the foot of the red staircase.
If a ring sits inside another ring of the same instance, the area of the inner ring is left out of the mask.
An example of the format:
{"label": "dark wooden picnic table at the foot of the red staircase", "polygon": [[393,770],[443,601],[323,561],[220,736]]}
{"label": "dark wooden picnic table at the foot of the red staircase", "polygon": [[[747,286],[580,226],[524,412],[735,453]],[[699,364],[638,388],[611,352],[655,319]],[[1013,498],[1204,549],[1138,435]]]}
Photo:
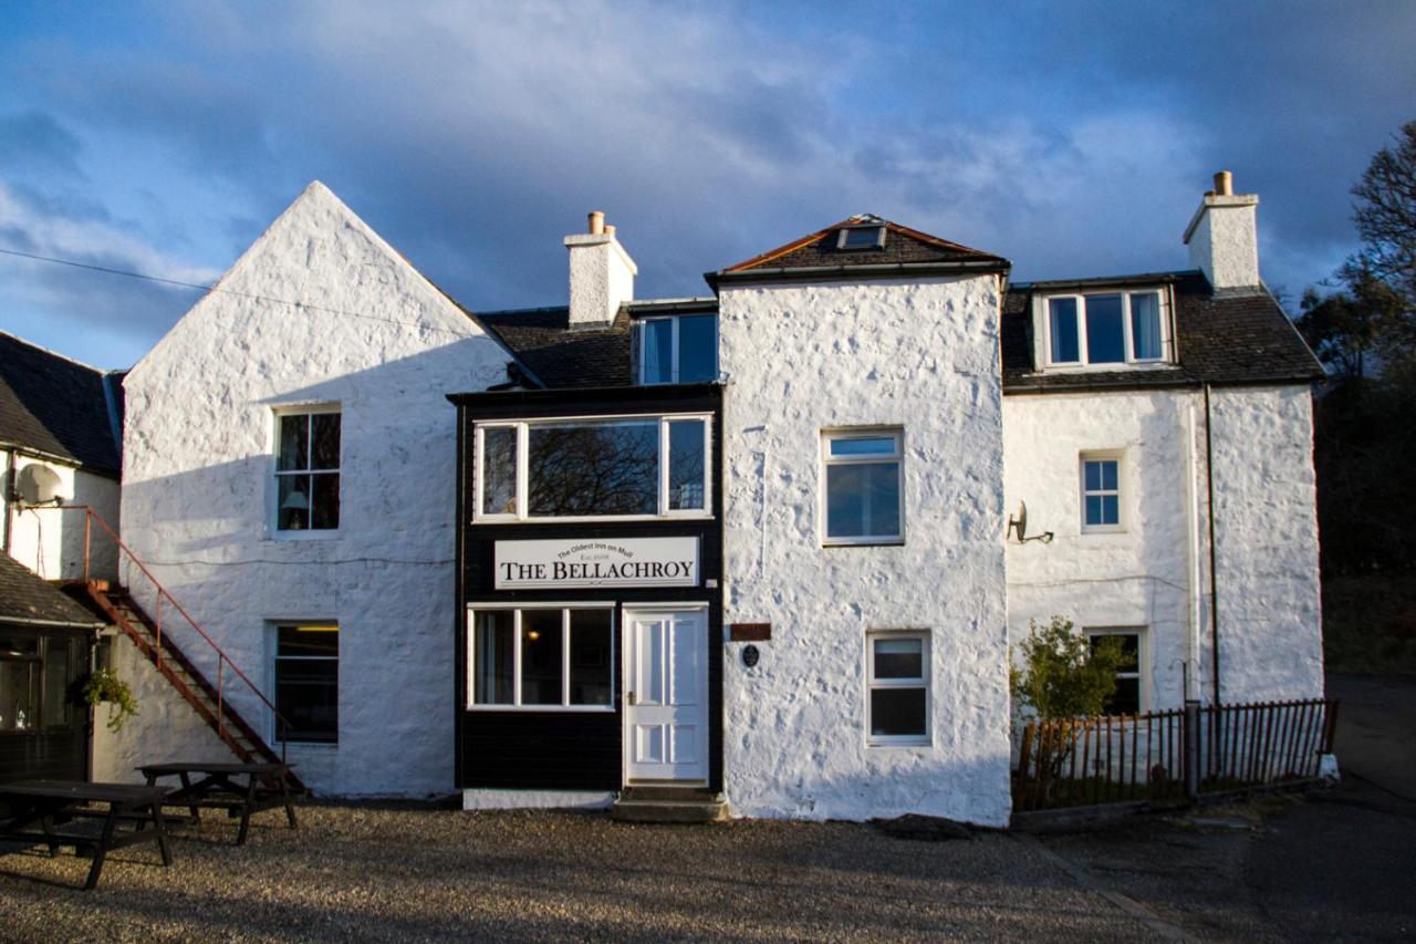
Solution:
{"label": "dark wooden picnic table at the foot of the red staircase", "polygon": [[[299,829],[295,818],[295,797],[290,795],[287,774],[292,764],[219,764],[204,761],[173,761],[166,764],[143,764],[137,770],[152,787],[160,777],[177,777],[181,787],[163,799],[164,807],[185,807],[191,822],[198,822],[201,809],[225,809],[228,816],[241,816],[241,831],[236,845],[246,843],[251,828],[251,814],[285,807],[290,829]],[[193,780],[200,775],[201,780]],[[238,777],[245,777],[239,782]]]}

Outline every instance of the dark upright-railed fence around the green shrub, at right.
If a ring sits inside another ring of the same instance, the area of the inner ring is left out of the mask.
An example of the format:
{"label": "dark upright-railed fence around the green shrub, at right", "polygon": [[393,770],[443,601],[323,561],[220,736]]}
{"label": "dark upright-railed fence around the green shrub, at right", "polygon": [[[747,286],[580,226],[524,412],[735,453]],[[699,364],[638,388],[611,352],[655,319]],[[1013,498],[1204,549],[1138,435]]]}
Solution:
{"label": "dark upright-railed fence around the green shrub, at right", "polygon": [[1335,700],[1188,706],[1029,721],[1012,775],[1017,811],[1134,801],[1315,780],[1332,753]]}

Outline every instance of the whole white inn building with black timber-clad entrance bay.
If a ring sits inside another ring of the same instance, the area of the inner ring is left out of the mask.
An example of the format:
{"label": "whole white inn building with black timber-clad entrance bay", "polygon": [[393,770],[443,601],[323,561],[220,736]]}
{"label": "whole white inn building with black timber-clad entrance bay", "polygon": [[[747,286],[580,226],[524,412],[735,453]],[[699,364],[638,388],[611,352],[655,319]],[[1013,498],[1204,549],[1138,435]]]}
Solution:
{"label": "whole white inn building with black timber-clad entrance bay", "polygon": [[125,539],[320,791],[1001,825],[1029,619],[1129,635],[1126,710],[1321,695],[1255,204],[1177,272],[852,217],[667,300],[592,214],[568,306],[469,315],[314,184],[130,373]]}

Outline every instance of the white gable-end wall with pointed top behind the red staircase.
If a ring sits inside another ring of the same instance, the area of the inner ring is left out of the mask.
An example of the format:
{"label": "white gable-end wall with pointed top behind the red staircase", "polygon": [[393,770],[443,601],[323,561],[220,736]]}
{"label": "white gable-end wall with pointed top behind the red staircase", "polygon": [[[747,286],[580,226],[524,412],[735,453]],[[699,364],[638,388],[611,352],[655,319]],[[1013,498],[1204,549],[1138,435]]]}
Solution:
{"label": "white gable-end wall with pointed top behind the red staircase", "polygon": [[[456,412],[445,394],[501,380],[508,356],[320,184],[219,286],[232,293],[195,305],[125,383],[125,539],[268,692],[273,621],[338,622],[340,743],[290,746],[307,784],[450,792]],[[273,530],[273,411],[297,404],[343,412],[334,533]],[[178,641],[211,673],[207,651]],[[259,704],[229,679],[227,690],[263,727]]]}

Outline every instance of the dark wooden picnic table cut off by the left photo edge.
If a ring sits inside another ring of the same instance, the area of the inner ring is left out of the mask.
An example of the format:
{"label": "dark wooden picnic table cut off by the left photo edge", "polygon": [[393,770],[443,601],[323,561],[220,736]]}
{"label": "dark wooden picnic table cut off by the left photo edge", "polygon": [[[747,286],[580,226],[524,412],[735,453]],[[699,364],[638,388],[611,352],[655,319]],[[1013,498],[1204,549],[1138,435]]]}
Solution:
{"label": "dark wooden picnic table cut off by the left photo edge", "polygon": [[[0,784],[0,804],[7,808],[7,814],[0,818],[0,839],[47,845],[51,856],[58,855],[59,846],[74,846],[75,855],[81,849],[92,849],[93,865],[84,883],[84,890],[88,892],[98,884],[103,859],[112,849],[156,842],[163,865],[173,863],[161,815],[166,797],[167,791],[161,787],[137,784],[92,784],[76,780]],[[75,819],[102,819],[103,826],[96,838],[64,828]],[[133,828],[120,831],[119,824],[130,824]],[[34,829],[35,825],[38,829]]]}

